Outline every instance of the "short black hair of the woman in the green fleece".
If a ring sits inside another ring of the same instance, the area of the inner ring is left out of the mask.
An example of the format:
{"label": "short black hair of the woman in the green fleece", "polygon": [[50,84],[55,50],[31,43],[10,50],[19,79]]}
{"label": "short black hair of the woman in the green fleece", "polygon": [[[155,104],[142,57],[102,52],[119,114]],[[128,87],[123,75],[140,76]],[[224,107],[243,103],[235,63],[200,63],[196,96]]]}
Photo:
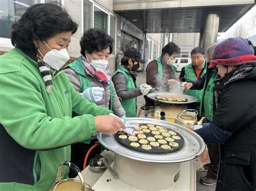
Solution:
{"label": "short black hair of the woman in the green fleece", "polygon": [[59,3],[42,3],[30,6],[12,25],[11,43],[22,51],[37,54],[34,38],[47,40],[58,33],[75,33],[78,24]]}

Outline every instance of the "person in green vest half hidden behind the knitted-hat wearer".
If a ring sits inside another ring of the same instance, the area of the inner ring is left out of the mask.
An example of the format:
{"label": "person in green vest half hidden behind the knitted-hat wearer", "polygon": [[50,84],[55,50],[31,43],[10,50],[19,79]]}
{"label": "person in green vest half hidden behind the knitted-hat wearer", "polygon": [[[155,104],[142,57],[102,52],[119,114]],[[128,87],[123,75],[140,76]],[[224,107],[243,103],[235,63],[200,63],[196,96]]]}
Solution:
{"label": "person in green vest half hidden behind the knitted-hat wearer", "polygon": [[[212,53],[218,43],[214,43],[207,48],[207,66],[210,65],[212,60]],[[200,104],[199,115],[206,117],[206,122],[209,123],[212,121],[212,117],[215,111],[215,102],[214,102],[214,81],[218,78],[217,69],[208,68],[206,73],[200,77],[197,81],[191,81],[185,84],[184,90],[188,89],[203,89],[202,101]],[[200,179],[200,182],[203,185],[211,186],[214,185],[217,181],[217,173],[219,168],[219,144],[208,144],[208,153],[210,156],[211,163],[208,165],[207,175]]]}

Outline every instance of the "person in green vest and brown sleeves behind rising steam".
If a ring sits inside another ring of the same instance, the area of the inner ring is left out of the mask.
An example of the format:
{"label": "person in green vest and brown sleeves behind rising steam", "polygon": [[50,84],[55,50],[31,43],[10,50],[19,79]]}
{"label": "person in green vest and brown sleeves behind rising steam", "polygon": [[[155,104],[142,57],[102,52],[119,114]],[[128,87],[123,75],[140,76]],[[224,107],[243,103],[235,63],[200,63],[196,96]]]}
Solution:
{"label": "person in green vest and brown sleeves behind rising steam", "polygon": [[[170,84],[177,82],[175,79],[176,67],[173,66],[180,48],[173,42],[168,43],[161,50],[161,56],[152,60],[146,68],[146,83],[152,88],[162,92],[170,91]],[[144,96],[146,105],[154,106],[154,101]]]}

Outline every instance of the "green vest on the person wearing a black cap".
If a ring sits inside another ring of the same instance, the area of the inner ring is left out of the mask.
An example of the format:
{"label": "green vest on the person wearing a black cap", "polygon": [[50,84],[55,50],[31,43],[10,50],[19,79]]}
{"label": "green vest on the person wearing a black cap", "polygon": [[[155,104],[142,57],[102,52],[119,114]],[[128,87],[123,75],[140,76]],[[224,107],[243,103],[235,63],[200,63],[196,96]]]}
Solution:
{"label": "green vest on the person wearing a black cap", "polygon": [[[126,90],[127,91],[137,88],[137,83],[135,82],[135,84],[134,84],[131,74],[129,74],[128,70],[126,68],[124,68],[124,66],[121,65],[116,70],[114,75],[116,75],[117,73],[124,74],[125,79],[126,79]],[[137,104],[136,104],[135,97],[131,98],[129,100],[122,100],[120,102],[126,112],[126,117],[137,117]]]}

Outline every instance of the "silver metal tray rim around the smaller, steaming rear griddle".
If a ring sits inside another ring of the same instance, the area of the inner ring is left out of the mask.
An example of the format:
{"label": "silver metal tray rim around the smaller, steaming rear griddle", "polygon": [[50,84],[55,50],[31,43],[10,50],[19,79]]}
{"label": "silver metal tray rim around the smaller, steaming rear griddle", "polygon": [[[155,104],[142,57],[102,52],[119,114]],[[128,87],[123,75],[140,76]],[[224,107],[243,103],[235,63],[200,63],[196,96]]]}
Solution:
{"label": "silver metal tray rim around the smaller, steaming rear griddle", "polygon": [[[175,101],[158,100],[156,98],[156,96],[158,96],[158,95],[181,96],[181,97],[187,98],[187,101],[186,102],[175,102]],[[193,103],[193,102],[197,101],[197,99],[192,97],[192,96],[188,96],[188,95],[184,95],[184,94],[163,93],[163,92],[156,92],[156,93],[147,94],[147,97],[151,98],[154,101],[159,101],[159,102],[162,102],[162,103],[173,103],[173,104],[188,104],[188,103]]]}

